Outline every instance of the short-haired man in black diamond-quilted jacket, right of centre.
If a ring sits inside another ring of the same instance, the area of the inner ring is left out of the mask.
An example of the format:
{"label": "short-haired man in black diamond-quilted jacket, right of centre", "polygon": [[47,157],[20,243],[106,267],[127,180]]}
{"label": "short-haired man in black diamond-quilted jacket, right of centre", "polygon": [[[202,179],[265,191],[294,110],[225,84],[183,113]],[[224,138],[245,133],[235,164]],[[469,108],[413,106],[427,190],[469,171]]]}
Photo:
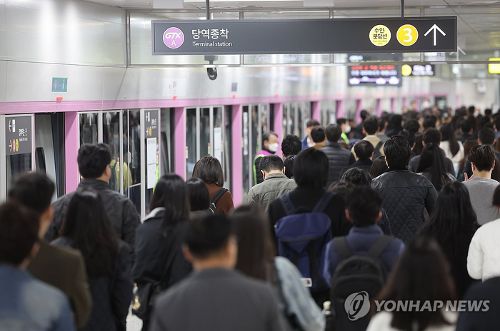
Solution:
{"label": "short-haired man in black diamond-quilted jacket, right of centre", "polygon": [[374,178],[371,187],[384,200],[391,235],[409,241],[424,224],[424,209],[430,214],[436,205],[437,192],[431,181],[406,168],[411,156],[410,144],[394,136],[384,146],[389,169]]}

